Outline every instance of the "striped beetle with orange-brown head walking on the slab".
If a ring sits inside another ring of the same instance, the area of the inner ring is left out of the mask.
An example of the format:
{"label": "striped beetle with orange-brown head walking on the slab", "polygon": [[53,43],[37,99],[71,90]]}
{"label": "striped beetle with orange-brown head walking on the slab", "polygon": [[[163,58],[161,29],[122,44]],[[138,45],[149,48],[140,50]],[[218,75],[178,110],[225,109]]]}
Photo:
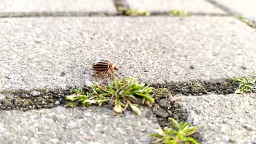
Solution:
{"label": "striped beetle with orange-brown head walking on the slab", "polygon": [[113,61],[109,61],[107,59],[96,59],[93,63],[93,70],[96,71],[107,71],[110,70],[118,70],[116,64]]}

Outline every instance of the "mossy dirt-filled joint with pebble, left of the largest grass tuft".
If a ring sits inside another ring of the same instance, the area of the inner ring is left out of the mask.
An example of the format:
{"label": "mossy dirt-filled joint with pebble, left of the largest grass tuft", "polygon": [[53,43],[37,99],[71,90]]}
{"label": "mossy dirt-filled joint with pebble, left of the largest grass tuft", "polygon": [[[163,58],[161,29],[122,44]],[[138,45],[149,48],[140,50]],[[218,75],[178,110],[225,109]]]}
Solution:
{"label": "mossy dirt-filled joint with pebble, left of the largest grass tuft", "polygon": [[29,110],[53,108],[57,106],[64,106],[67,104],[65,96],[71,93],[66,91],[48,91],[48,90],[33,90],[39,95],[31,95],[31,91],[3,91],[0,92],[2,99],[0,99],[0,110]]}

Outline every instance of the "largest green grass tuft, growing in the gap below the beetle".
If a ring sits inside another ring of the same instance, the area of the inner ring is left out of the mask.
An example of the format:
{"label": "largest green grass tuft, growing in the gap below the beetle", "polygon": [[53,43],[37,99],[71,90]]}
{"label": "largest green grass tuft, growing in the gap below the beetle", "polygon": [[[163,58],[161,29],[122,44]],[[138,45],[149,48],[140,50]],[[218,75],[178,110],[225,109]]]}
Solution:
{"label": "largest green grass tuft, growing in the gap below the beetle", "polygon": [[145,83],[138,83],[135,81],[135,77],[126,80],[118,80],[114,77],[112,83],[108,85],[100,83],[87,82],[88,87],[83,89],[75,89],[74,94],[66,96],[66,100],[69,101],[68,107],[75,107],[79,104],[83,106],[89,106],[91,104],[108,103],[114,106],[113,110],[117,113],[122,113],[131,107],[137,115],[141,115],[140,109],[136,106],[139,103],[147,104],[154,103],[154,99],[150,94],[153,90],[149,85],[145,86]]}

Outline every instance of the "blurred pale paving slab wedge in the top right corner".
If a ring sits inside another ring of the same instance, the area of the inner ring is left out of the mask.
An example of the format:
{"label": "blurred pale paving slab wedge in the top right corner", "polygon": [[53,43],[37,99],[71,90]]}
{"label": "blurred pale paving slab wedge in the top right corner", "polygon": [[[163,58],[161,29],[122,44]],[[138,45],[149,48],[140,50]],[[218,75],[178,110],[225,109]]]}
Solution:
{"label": "blurred pale paving slab wedge in the top right corner", "polygon": [[230,13],[241,15],[256,24],[255,0],[209,0],[227,8]]}

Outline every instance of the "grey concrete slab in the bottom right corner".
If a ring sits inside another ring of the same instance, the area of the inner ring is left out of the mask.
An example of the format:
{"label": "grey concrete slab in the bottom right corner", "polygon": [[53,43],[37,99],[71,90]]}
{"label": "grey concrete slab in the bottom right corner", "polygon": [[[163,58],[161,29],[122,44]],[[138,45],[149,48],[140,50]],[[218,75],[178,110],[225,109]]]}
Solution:
{"label": "grey concrete slab in the bottom right corner", "polygon": [[256,143],[256,94],[180,97],[177,115],[199,125],[202,144]]}

